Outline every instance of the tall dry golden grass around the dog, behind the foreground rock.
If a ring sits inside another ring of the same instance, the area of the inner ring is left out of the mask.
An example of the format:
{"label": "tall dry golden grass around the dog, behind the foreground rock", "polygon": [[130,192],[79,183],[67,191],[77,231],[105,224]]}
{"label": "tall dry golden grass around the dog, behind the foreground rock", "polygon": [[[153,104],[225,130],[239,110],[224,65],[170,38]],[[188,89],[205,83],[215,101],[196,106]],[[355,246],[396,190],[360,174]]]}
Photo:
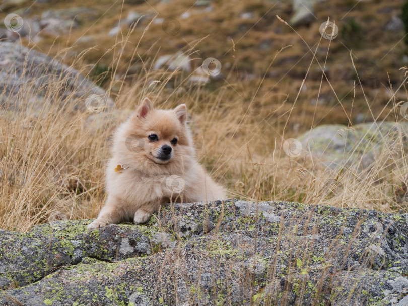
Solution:
{"label": "tall dry golden grass around the dog, behind the foreground rock", "polygon": [[[162,83],[149,85],[153,80]],[[169,81],[176,84],[175,90],[169,89]],[[54,91],[58,82],[51,86]],[[251,96],[239,81],[228,85],[236,89],[235,96],[227,86],[214,91],[183,86],[183,76],[169,71],[149,71],[131,85],[112,81],[110,86],[118,84],[122,89],[116,97],[115,112],[128,113],[145,95],[163,108],[186,103],[198,156],[228,186],[231,197],[406,211],[395,202],[393,193],[408,173],[403,149],[384,150],[370,171],[359,172],[356,164],[328,171],[318,167],[316,160],[289,158],[281,150],[283,139],[294,134],[293,107],[288,103],[270,105],[273,99],[265,98],[256,100],[258,106],[251,106]],[[28,99],[25,92],[29,88],[21,90],[22,101]],[[49,95],[57,97],[52,92]],[[69,105],[76,103],[81,102],[53,100],[53,106],[44,106],[35,115],[28,109],[13,118],[2,117],[1,228],[27,231],[58,213],[69,219],[91,218],[98,213],[105,198],[108,139],[120,119],[108,116],[97,119],[101,128],[87,128],[85,120],[90,113],[70,110]],[[403,148],[402,139],[399,147]]]}

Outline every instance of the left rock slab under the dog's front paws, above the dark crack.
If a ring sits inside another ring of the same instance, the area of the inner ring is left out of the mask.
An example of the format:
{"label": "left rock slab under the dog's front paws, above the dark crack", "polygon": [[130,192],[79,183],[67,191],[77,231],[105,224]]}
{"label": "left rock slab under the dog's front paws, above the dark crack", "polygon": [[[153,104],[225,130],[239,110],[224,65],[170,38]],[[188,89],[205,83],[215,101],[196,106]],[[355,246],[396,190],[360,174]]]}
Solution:
{"label": "left rock slab under the dog's front paws, above the dark crack", "polygon": [[[54,221],[31,232],[1,233],[0,288],[11,281],[30,284],[52,272],[54,267],[75,265],[85,257],[117,261],[129,256],[148,255],[160,243],[157,228],[110,225],[102,231],[86,230],[89,221]],[[153,237],[157,239],[153,240]],[[7,265],[7,266],[6,266]],[[4,273],[8,270],[21,271]]]}

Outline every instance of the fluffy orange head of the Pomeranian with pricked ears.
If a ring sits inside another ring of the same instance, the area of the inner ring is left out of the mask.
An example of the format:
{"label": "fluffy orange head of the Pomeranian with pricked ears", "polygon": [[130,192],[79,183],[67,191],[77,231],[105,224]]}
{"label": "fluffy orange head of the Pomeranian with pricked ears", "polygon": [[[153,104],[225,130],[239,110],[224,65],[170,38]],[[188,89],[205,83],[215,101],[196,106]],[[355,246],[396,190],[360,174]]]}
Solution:
{"label": "fluffy orange head of the Pomeranian with pricked ears", "polygon": [[158,110],[145,98],[131,115],[126,147],[156,164],[167,164],[177,158],[182,147],[190,146],[186,127],[186,106]]}

